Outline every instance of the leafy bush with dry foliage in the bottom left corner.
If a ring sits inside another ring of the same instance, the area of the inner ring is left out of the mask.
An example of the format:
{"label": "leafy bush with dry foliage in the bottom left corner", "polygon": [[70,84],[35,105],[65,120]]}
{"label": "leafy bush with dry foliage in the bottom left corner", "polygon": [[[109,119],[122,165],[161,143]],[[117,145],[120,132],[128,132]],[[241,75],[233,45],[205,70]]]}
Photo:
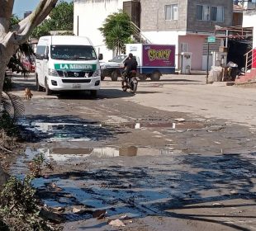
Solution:
{"label": "leafy bush with dry foliage in the bottom left corner", "polygon": [[31,176],[24,180],[10,177],[0,197],[0,230],[53,230],[40,218],[40,207],[31,186]]}

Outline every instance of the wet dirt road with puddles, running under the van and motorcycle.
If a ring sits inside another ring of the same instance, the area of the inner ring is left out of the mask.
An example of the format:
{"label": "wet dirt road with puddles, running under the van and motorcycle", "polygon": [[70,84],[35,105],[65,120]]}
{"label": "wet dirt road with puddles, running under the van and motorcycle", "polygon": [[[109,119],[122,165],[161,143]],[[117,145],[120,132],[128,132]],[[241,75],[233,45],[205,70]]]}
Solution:
{"label": "wet dirt road with puddles, running under the van and motorcycle", "polygon": [[[19,123],[36,143],[11,172],[44,153],[55,170],[34,184],[46,205],[64,208],[64,230],[256,229],[256,93],[203,76],[163,79],[139,82],[135,96],[107,80],[93,99],[45,97],[34,79],[16,78],[14,93],[34,94]],[[107,224],[124,214],[126,226]]]}

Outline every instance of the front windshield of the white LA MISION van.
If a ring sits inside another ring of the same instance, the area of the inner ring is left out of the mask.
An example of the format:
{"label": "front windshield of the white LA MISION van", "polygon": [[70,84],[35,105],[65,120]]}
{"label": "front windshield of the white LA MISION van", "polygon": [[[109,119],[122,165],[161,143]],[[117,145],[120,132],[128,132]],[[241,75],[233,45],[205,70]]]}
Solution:
{"label": "front windshield of the white LA MISION van", "polygon": [[95,60],[97,55],[91,45],[51,45],[51,59]]}

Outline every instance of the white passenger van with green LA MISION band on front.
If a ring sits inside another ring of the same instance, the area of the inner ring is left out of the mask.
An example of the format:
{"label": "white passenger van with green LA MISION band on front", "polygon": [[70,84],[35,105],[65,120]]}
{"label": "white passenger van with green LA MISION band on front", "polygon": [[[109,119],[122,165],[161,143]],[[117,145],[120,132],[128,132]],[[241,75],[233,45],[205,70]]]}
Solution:
{"label": "white passenger van with green LA MISION band on front", "polygon": [[89,90],[95,97],[101,87],[99,60],[87,37],[40,37],[36,48],[36,87],[47,95],[59,91]]}

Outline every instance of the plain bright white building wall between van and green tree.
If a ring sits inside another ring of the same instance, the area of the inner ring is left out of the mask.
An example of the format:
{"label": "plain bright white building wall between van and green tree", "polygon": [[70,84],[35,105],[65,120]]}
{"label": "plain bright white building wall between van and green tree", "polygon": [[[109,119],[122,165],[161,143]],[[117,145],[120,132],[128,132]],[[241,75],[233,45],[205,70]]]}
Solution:
{"label": "plain bright white building wall between van and green tree", "polygon": [[74,0],[73,1],[73,34],[88,36],[103,59],[112,59],[113,52],[107,50],[104,38],[98,28],[110,14],[123,9],[125,0]]}

